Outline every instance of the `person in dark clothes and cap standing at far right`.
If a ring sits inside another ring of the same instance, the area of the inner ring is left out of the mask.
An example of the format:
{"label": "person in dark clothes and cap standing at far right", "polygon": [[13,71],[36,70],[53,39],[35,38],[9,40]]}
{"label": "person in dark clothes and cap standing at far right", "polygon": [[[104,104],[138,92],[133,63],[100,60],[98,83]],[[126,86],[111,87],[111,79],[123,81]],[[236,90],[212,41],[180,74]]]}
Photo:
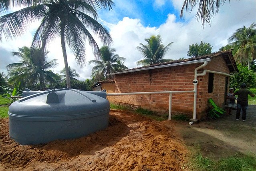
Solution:
{"label": "person in dark clothes and cap standing at far right", "polygon": [[248,89],[246,89],[246,84],[243,83],[240,86],[240,89],[238,91],[236,91],[233,95],[238,95],[237,97],[237,111],[236,111],[236,120],[239,120],[240,117],[240,111],[242,109],[243,111],[243,115],[242,115],[242,119],[243,121],[246,121],[246,110],[248,107],[248,94],[250,94],[250,96],[254,97],[255,95]]}

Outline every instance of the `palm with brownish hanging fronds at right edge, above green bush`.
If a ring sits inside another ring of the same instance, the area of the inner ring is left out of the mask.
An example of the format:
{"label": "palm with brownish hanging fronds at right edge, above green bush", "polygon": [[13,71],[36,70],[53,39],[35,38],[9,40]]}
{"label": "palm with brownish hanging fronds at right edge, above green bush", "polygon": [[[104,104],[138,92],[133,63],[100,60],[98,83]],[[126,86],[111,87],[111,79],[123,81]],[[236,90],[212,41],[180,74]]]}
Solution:
{"label": "palm with brownish hanging fronds at right edge, above green bush", "polygon": [[237,49],[235,59],[242,64],[246,63],[250,70],[250,62],[256,59],[256,24],[252,23],[248,28],[243,26],[237,29],[228,41]]}

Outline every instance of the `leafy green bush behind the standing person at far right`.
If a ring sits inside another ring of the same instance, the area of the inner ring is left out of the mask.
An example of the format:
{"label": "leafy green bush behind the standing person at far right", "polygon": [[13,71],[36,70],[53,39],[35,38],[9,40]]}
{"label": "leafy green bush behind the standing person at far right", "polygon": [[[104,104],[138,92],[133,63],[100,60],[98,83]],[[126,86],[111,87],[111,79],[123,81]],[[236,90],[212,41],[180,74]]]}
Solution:
{"label": "leafy green bush behind the standing person at far right", "polygon": [[256,73],[242,64],[238,64],[237,67],[239,72],[230,77],[230,87],[239,89],[242,83],[246,83],[249,88],[256,87]]}

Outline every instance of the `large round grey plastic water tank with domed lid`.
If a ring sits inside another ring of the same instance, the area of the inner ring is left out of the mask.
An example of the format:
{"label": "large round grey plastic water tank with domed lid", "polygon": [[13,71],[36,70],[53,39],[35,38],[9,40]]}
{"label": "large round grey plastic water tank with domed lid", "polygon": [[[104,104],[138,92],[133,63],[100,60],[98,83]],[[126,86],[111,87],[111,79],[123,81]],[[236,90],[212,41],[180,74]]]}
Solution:
{"label": "large round grey plastic water tank with domed lid", "polygon": [[10,105],[10,138],[24,145],[82,137],[108,127],[109,109],[106,92],[53,89],[35,93]]}

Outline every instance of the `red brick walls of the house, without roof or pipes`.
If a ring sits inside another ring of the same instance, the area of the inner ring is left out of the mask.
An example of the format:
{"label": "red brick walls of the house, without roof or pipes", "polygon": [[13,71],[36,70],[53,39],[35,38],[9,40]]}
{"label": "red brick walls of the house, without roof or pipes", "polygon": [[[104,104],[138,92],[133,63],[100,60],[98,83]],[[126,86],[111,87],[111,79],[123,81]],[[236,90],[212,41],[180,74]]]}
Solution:
{"label": "red brick walls of the house, without roof or pipes", "polygon": [[[115,93],[145,91],[185,91],[194,90],[194,70],[201,64],[174,66],[115,75]],[[225,72],[229,70],[222,57],[212,59],[201,69]],[[214,88],[208,93],[208,73],[198,77],[197,118],[208,109],[208,99],[213,98],[218,105],[224,104],[225,77],[214,74]],[[131,104],[158,111],[168,111],[169,94],[114,96],[115,103]],[[172,94],[172,110],[193,115],[194,93]]]}

